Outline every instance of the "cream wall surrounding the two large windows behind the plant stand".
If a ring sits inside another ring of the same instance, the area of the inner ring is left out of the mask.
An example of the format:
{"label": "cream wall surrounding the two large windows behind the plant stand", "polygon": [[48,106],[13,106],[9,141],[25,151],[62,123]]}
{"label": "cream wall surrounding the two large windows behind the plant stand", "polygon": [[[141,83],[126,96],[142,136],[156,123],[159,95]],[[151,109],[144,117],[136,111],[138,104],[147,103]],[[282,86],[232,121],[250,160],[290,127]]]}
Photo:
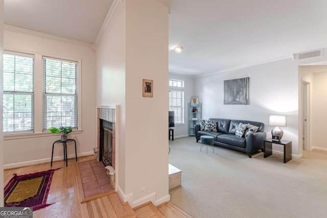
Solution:
{"label": "cream wall surrounding the two large windows behind the plant stand", "polygon": [[[79,60],[81,63],[81,78],[79,78],[81,95],[79,106],[81,106],[82,132],[80,134],[70,134],[77,142],[78,155],[92,154],[92,148],[95,147],[96,134],[96,55],[91,50],[91,45],[85,43],[73,42],[71,40],[61,40],[45,34],[36,34],[30,31],[19,31],[12,28],[5,28],[4,32],[5,50],[26,52],[36,54],[40,60],[42,55],[63,58],[68,60]],[[35,63],[35,84],[42,84],[40,74],[40,62]],[[38,74],[38,75],[37,75]],[[40,89],[35,91],[35,133],[27,138],[5,136],[4,141],[4,164],[5,167],[15,167],[51,160],[52,143],[60,138],[60,135],[42,133],[42,120],[39,114],[42,114],[42,92]],[[75,155],[74,146],[68,146],[68,156]],[[62,146],[55,146],[54,160],[63,159]]]}

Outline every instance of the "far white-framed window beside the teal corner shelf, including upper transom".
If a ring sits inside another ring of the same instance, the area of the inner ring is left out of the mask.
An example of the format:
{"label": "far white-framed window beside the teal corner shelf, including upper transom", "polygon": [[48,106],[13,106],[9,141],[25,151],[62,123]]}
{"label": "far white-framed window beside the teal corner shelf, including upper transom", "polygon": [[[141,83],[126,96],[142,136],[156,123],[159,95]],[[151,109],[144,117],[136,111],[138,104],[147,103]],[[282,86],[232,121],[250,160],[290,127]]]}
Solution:
{"label": "far white-framed window beside the teal corner shelf, including upper transom", "polygon": [[175,111],[175,124],[184,124],[184,81],[169,80],[169,110]]}

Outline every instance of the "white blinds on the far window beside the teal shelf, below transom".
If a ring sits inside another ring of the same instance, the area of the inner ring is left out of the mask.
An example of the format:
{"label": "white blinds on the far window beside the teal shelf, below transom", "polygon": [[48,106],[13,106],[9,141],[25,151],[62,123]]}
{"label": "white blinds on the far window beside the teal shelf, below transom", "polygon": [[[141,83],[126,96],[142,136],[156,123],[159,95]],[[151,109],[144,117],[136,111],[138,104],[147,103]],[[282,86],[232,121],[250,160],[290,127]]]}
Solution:
{"label": "white blinds on the far window beside the teal shelf, below transom", "polygon": [[184,91],[169,91],[169,110],[175,111],[175,124],[184,123]]}

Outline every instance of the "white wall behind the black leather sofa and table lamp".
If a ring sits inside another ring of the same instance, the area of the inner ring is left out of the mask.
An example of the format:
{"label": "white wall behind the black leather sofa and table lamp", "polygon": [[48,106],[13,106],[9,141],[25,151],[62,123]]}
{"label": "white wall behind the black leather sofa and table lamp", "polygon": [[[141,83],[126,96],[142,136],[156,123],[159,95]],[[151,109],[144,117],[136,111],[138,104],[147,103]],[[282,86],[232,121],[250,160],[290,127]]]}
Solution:
{"label": "white wall behind the black leather sofa and table lamp", "polygon": [[[326,49],[324,49],[324,54]],[[195,90],[202,99],[202,118],[249,119],[265,123],[271,137],[269,115],[286,115],[283,139],[292,141],[292,154],[302,157],[301,78],[299,66],[325,61],[327,57],[297,61],[284,59],[241,69],[197,77]],[[224,105],[224,80],[249,77],[249,105]],[[300,143],[298,141],[300,140]],[[282,152],[283,147],[273,148]]]}

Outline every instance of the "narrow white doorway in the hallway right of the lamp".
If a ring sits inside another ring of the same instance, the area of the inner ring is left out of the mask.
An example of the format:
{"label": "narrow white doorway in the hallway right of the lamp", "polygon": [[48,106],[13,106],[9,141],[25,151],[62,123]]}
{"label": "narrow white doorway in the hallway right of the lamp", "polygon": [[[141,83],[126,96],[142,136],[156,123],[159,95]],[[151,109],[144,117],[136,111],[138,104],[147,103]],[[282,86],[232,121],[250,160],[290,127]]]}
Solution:
{"label": "narrow white doorway in the hallway right of the lamp", "polygon": [[310,83],[302,81],[302,149],[310,147]]}

